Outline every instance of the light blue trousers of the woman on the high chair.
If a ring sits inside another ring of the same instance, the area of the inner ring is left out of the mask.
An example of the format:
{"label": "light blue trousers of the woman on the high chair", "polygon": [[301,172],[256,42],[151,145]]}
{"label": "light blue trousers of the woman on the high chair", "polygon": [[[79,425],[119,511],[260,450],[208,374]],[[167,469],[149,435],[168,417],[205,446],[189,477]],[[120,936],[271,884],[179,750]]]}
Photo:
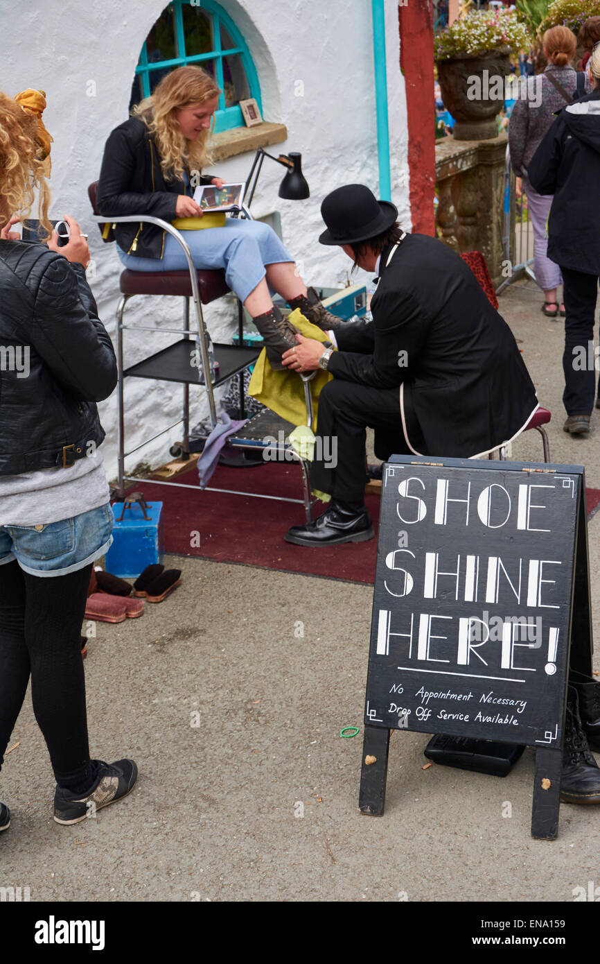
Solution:
{"label": "light blue trousers of the woman on the high chair", "polygon": [[[265,277],[265,265],[294,261],[273,228],[261,221],[227,218],[224,228],[181,231],[190,247],[196,268],[224,268],[225,279],[240,301]],[[187,271],[188,262],[178,241],[168,234],[161,259],[125,254],[117,246],[122,263],[130,271]]]}

